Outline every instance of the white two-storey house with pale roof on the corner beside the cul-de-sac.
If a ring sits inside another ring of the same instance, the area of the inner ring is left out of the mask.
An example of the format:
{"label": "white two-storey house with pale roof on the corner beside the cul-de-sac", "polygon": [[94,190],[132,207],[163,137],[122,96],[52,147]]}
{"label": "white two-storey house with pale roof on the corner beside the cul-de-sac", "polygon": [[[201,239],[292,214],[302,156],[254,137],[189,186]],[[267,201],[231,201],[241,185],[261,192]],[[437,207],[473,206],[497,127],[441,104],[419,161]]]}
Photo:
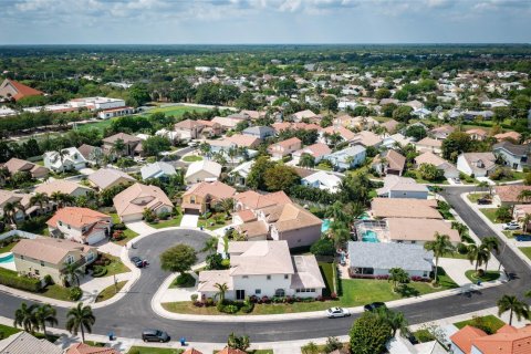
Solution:
{"label": "white two-storey house with pale roof on the corner beside the cul-de-sac", "polygon": [[285,241],[229,242],[230,269],[199,273],[201,299],[215,298],[226,283],[226,298],[316,298],[325,288],[314,256],[290,254]]}

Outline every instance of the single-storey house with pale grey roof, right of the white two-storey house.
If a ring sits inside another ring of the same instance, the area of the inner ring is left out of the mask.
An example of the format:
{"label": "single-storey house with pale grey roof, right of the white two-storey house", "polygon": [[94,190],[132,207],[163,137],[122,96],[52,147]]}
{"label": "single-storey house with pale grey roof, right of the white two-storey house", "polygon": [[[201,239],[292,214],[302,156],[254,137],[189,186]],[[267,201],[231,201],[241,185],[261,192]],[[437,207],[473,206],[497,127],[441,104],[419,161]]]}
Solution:
{"label": "single-storey house with pale grey roof, right of the white two-storey house", "polygon": [[429,279],[434,253],[423,246],[395,242],[348,241],[348,274],[352,278],[388,275],[393,268],[409,277]]}

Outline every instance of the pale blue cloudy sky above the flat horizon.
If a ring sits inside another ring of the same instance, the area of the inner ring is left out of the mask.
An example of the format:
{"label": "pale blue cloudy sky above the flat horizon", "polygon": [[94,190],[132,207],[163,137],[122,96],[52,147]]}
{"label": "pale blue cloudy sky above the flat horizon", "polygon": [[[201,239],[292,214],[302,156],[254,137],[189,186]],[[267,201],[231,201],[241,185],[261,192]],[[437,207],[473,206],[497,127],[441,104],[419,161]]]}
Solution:
{"label": "pale blue cloudy sky above the flat horizon", "polygon": [[1,0],[0,9],[0,44],[531,42],[531,0]]}

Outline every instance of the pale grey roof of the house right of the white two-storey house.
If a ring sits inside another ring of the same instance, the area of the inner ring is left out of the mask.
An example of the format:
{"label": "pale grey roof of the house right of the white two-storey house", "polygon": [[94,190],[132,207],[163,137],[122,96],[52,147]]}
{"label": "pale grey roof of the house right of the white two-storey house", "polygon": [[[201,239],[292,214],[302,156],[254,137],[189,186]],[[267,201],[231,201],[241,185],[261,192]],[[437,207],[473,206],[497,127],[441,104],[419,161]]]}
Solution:
{"label": "pale grey roof of the house right of the white two-storey house", "polygon": [[419,244],[393,242],[348,242],[348,259],[354,268],[431,271],[433,252]]}

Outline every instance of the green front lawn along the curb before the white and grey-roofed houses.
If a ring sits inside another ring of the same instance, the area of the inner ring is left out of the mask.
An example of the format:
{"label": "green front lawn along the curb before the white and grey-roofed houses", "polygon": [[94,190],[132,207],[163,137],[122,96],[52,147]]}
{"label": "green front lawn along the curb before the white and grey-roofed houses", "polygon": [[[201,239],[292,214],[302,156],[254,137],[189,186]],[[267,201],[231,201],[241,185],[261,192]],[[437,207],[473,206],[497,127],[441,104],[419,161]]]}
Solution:
{"label": "green front lawn along the curb before the white and grey-roofed houses", "polygon": [[[448,278],[449,279],[449,278]],[[369,280],[369,279],[343,279],[341,281],[343,295],[335,301],[314,301],[314,302],[295,302],[293,304],[256,304],[251,314],[280,314],[280,313],[295,313],[321,311],[332,306],[354,308],[371,303],[374,301],[393,301],[409,296],[417,296],[428,294],[441,290],[447,290],[452,287],[451,280],[444,280],[439,278],[441,287],[434,288],[429,283],[412,282],[405,287],[402,292],[393,292],[392,283],[386,280]],[[450,284],[451,281],[451,284]],[[163,303],[164,309],[176,313],[192,313],[192,314],[219,314],[216,306],[196,308],[190,301],[168,302]],[[238,312],[236,315],[244,315],[243,312]]]}

